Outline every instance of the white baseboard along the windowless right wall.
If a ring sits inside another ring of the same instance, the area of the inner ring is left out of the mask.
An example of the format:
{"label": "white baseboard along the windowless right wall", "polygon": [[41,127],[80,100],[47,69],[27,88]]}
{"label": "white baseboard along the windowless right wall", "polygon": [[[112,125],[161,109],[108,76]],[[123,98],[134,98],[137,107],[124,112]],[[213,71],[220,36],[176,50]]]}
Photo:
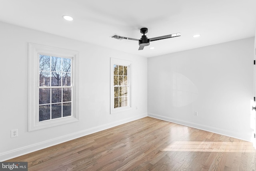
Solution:
{"label": "white baseboard along the windowless right wall", "polygon": [[161,120],[164,120],[164,121],[178,123],[180,125],[193,127],[193,128],[196,128],[196,129],[202,129],[204,131],[209,131],[209,132],[212,132],[212,133],[218,133],[220,135],[226,135],[228,137],[233,137],[233,138],[237,138],[237,139],[242,139],[244,141],[252,142],[252,137],[250,137],[249,135],[242,135],[242,134],[239,134],[239,133],[236,133],[236,132],[227,131],[227,130],[219,129],[219,128],[216,128],[216,127],[209,127],[209,126],[201,125],[201,124],[198,124],[198,123],[192,123],[192,122],[188,122],[188,121],[182,121],[182,120],[179,120],[179,119],[174,119],[174,118],[171,118],[171,117],[156,115],[156,114],[153,114],[153,113],[148,113],[148,116],[149,117],[154,117],[156,119],[161,119]]}

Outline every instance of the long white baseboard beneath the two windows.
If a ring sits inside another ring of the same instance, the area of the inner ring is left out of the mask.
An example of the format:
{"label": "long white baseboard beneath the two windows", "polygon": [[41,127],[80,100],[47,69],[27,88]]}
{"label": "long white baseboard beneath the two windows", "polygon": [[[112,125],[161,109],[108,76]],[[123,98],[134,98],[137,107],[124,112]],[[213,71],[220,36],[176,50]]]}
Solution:
{"label": "long white baseboard beneath the two windows", "polygon": [[64,143],[64,142],[70,141],[72,139],[83,137],[85,135],[96,133],[98,131],[109,129],[111,127],[115,127],[115,126],[118,126],[118,125],[121,125],[121,124],[124,124],[124,123],[128,123],[130,121],[134,121],[134,120],[137,120],[137,119],[141,119],[143,117],[147,117],[147,116],[148,116],[147,113],[144,113],[144,114],[138,115],[136,117],[130,117],[130,118],[126,118],[126,119],[123,119],[123,120],[107,123],[107,124],[104,124],[104,125],[100,125],[100,126],[97,126],[97,127],[92,127],[90,129],[86,129],[86,130],[79,131],[79,132],[76,132],[76,133],[72,133],[72,134],[69,134],[69,135],[65,135],[65,136],[62,136],[62,137],[57,137],[57,138],[54,138],[54,139],[50,139],[48,141],[44,141],[44,142],[28,145],[26,147],[22,147],[22,148],[14,149],[14,150],[11,150],[11,151],[7,151],[5,153],[0,154],[0,161],[6,161],[6,160],[12,159],[14,157],[18,157],[18,156],[21,156],[21,155],[32,153],[32,152],[38,151],[40,149],[44,149],[44,148],[47,148],[47,147],[51,147],[53,145]]}

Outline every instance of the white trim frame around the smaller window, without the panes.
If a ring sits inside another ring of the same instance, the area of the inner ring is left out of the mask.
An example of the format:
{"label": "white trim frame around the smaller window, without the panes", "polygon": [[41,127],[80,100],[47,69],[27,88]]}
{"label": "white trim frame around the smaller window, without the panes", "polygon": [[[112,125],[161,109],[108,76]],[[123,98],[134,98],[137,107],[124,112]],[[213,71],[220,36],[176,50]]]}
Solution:
{"label": "white trim frame around the smaller window, without the panes", "polygon": [[[126,107],[114,108],[114,65],[128,66],[128,82],[129,82],[129,105]],[[132,109],[132,61],[110,58],[110,114],[119,113]]]}

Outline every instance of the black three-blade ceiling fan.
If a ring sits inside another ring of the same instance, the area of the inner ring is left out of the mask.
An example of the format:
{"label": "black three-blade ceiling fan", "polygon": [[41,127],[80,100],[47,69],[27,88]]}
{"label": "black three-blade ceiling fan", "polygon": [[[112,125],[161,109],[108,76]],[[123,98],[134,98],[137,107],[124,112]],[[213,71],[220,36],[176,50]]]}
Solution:
{"label": "black three-blade ceiling fan", "polygon": [[150,42],[152,42],[152,41],[162,40],[162,39],[167,39],[167,38],[174,38],[174,37],[181,36],[180,33],[175,33],[175,34],[169,34],[169,35],[166,35],[166,36],[160,36],[160,37],[148,39],[147,36],[145,35],[148,32],[148,28],[141,28],[140,32],[143,34],[143,36],[141,36],[140,39],[126,38],[126,37],[123,37],[123,36],[118,36],[117,34],[115,34],[115,35],[113,35],[111,37],[115,38],[115,39],[118,39],[118,40],[127,39],[127,40],[139,41],[139,46],[140,47],[139,47],[138,50],[143,50],[144,46],[148,46],[150,44]]}

